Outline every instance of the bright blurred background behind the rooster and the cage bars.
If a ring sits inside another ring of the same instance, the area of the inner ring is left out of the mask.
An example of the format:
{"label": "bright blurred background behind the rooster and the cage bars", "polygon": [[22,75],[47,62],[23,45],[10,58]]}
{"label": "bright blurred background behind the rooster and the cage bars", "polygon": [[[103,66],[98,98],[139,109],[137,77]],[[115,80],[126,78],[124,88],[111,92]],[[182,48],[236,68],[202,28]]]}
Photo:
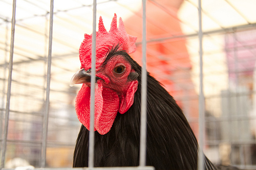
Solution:
{"label": "bright blurred background behind the rooster and the cage bars", "polygon": [[[256,11],[255,1],[202,1],[204,153],[216,164],[256,168]],[[8,87],[13,4],[0,1],[1,141]],[[80,123],[74,109],[79,85],[69,86],[79,69],[84,33],[92,33],[92,1],[54,1],[47,167],[72,167]],[[199,138],[198,1],[146,2],[147,70],[174,96]],[[40,167],[50,1],[16,2],[13,71],[5,167]],[[97,19],[106,30],[117,14],[126,32],[137,36],[131,56],[141,63],[140,1],[97,1]],[[200,141],[199,141],[200,142]],[[1,151],[3,148],[1,147]]]}

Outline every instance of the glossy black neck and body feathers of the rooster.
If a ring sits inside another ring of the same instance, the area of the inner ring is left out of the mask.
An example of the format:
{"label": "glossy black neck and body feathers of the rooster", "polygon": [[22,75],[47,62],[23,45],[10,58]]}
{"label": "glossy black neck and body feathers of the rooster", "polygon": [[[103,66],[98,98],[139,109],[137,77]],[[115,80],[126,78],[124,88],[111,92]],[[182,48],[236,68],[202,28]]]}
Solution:
{"label": "glossy black neck and body feathers of the rooster", "polygon": [[[95,132],[95,166],[138,166],[140,140],[141,66],[127,53],[112,49],[109,55],[122,55],[138,73],[134,104],[117,114],[105,135]],[[131,76],[134,78],[134,76]],[[82,125],[74,152],[73,167],[88,166],[89,131]],[[147,75],[147,153],[146,165],[156,169],[197,169],[198,142],[182,110],[169,93]],[[215,169],[205,157],[205,169]]]}

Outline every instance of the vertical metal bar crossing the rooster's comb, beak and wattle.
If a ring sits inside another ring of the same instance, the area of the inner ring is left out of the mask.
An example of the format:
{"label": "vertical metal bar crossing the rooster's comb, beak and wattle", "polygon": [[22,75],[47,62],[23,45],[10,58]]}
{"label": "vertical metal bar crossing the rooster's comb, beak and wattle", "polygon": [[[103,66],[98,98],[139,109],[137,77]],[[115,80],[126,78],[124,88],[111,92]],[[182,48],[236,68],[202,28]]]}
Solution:
{"label": "vertical metal bar crossing the rooster's comb, beak and wattle", "polygon": [[92,35],[92,67],[91,67],[91,103],[90,103],[90,133],[89,133],[89,168],[94,167],[94,110],[95,110],[95,81],[96,81],[96,0],[93,1],[93,35]]}

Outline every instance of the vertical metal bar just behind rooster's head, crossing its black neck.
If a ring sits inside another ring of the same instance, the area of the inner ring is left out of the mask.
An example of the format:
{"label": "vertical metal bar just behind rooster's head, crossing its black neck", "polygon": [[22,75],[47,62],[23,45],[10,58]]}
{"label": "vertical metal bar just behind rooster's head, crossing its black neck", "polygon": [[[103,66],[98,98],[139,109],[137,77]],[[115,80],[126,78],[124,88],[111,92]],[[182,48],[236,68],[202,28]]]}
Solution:
{"label": "vertical metal bar just behind rooster's head, crossing its black neck", "polygon": [[140,166],[146,165],[146,0],[142,0],[142,74],[141,74],[141,118],[140,118]]}

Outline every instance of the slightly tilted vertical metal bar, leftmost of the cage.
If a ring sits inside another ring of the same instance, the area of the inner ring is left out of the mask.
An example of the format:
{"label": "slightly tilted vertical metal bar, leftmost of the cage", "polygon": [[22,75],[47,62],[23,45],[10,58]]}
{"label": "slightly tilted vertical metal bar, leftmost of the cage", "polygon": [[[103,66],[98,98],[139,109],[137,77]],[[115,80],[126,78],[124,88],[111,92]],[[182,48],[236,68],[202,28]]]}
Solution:
{"label": "slightly tilted vertical metal bar, leftmost of the cage", "polygon": [[4,137],[3,137],[3,141],[2,141],[1,169],[5,166],[5,154],[6,154],[6,148],[7,148],[7,133],[8,133],[8,124],[9,124],[9,115],[10,115],[15,15],[16,15],[16,0],[13,0],[13,3],[12,3],[12,35],[11,35],[11,45],[10,45],[9,76],[8,76],[6,110],[5,110],[5,127],[4,127]]}

